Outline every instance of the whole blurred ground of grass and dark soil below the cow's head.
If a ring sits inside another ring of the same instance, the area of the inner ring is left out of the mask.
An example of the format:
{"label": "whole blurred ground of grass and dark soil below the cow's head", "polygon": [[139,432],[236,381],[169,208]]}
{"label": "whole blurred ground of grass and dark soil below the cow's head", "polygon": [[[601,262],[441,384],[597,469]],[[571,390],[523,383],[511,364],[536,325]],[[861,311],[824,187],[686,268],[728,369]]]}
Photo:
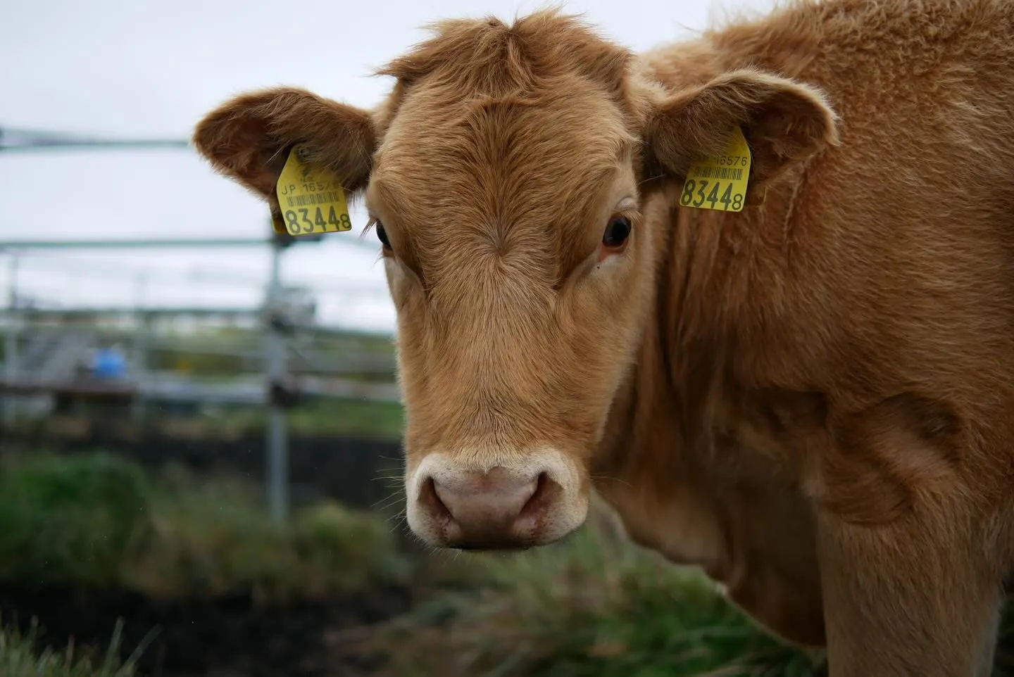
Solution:
{"label": "whole blurred ground of grass and dark soil below the cow's head", "polygon": [[[5,635],[3,674],[29,645],[52,649],[54,677],[811,674],[604,520],[552,548],[454,556],[407,544],[391,513],[330,501],[275,526],[257,496],[103,454],[5,458],[0,619],[22,637]],[[91,668],[60,667],[72,637]]]}

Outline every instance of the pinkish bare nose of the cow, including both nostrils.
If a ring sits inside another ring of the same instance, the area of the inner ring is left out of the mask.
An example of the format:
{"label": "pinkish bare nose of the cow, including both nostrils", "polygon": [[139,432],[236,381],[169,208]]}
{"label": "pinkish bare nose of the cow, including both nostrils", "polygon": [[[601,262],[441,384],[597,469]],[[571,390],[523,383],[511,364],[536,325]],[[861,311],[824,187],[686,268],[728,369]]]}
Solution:
{"label": "pinkish bare nose of the cow, including both nostrils", "polygon": [[523,547],[546,513],[553,481],[495,467],[430,477],[421,499],[442,518],[444,538],[452,547],[498,549]]}

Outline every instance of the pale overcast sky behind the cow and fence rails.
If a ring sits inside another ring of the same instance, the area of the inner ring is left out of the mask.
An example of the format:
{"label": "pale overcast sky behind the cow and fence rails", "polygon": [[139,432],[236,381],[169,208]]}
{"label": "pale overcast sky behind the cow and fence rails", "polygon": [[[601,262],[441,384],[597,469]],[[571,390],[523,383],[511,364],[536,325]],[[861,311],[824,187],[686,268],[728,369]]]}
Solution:
{"label": "pale overcast sky behind the cow and fence rails", "polygon": [[[520,0],[0,0],[0,127],[113,138],[189,138],[224,99],[273,85],[361,106],[390,86],[373,69],[421,26],[451,16],[511,19],[548,3]],[[724,10],[771,0],[571,0],[634,49],[687,37]],[[0,240],[259,237],[267,208],[192,150],[0,152]],[[320,319],[393,329],[378,248],[352,233],[292,247],[289,284],[317,293]],[[358,242],[355,240],[359,240]],[[6,303],[9,256],[0,254]],[[35,250],[18,290],[46,305],[254,306],[267,249]],[[142,274],[146,278],[142,278]]]}

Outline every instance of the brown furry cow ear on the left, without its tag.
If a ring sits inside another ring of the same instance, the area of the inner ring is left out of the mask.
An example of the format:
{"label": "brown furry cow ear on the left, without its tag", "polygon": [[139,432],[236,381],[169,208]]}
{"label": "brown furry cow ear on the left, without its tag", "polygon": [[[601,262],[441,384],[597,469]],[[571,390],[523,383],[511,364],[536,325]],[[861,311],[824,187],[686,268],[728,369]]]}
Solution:
{"label": "brown furry cow ear on the left, without its tag", "polygon": [[350,194],[365,187],[376,133],[366,110],[321,98],[304,89],[279,87],[242,94],[202,120],[194,145],[219,172],[269,202],[289,149],[332,172]]}

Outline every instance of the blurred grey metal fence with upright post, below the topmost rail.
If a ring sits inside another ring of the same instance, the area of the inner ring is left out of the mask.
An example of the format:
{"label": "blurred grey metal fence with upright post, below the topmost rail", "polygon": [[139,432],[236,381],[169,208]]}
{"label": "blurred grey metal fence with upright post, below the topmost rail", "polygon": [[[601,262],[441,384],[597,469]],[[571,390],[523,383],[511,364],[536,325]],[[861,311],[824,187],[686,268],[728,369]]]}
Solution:
{"label": "blurred grey metal fence with upright post, below the topmost rail", "polygon": [[[269,228],[270,228],[269,224]],[[342,378],[350,374],[387,374],[393,381],[392,356],[377,357],[360,352],[357,355],[331,356],[310,346],[292,346],[297,336],[339,338],[349,334],[334,327],[316,325],[306,310],[293,305],[282,285],[280,260],[292,243],[271,235],[265,238],[236,239],[159,239],[159,240],[69,240],[69,241],[0,241],[0,251],[11,253],[9,302],[4,313],[5,332],[4,373],[0,393],[4,399],[4,421],[14,422],[17,398],[31,395],[74,396],[130,402],[140,412],[148,402],[192,402],[200,404],[240,404],[265,407],[268,413],[266,440],[267,494],[269,508],[276,520],[284,520],[289,510],[288,495],[288,427],[286,409],[300,397],[352,397],[385,402],[401,399],[393,382],[376,383]],[[298,240],[297,240],[298,241]],[[268,246],[271,248],[271,269],[264,302],[258,307],[238,308],[25,308],[18,303],[16,292],[18,252],[33,248],[206,248],[209,246]],[[310,311],[312,312],[312,311]],[[228,355],[221,348],[202,349],[200,345],[176,348],[171,342],[159,341],[152,325],[162,319],[189,317],[211,321],[245,320],[249,327],[260,327],[263,345],[249,346],[232,353],[233,357],[259,363],[260,376],[237,374],[229,382],[214,382],[200,378],[180,378],[175,374],[153,372],[148,368],[154,351],[199,354],[207,350]],[[129,380],[103,382],[82,379],[79,368],[82,354],[87,354],[87,341],[82,336],[97,330],[102,324],[130,326],[133,336],[130,362],[136,372]],[[42,326],[47,331],[37,332]],[[292,350],[296,349],[296,350]],[[352,360],[350,360],[352,358]],[[354,360],[354,362],[353,362]],[[290,362],[295,363],[290,366]]]}

